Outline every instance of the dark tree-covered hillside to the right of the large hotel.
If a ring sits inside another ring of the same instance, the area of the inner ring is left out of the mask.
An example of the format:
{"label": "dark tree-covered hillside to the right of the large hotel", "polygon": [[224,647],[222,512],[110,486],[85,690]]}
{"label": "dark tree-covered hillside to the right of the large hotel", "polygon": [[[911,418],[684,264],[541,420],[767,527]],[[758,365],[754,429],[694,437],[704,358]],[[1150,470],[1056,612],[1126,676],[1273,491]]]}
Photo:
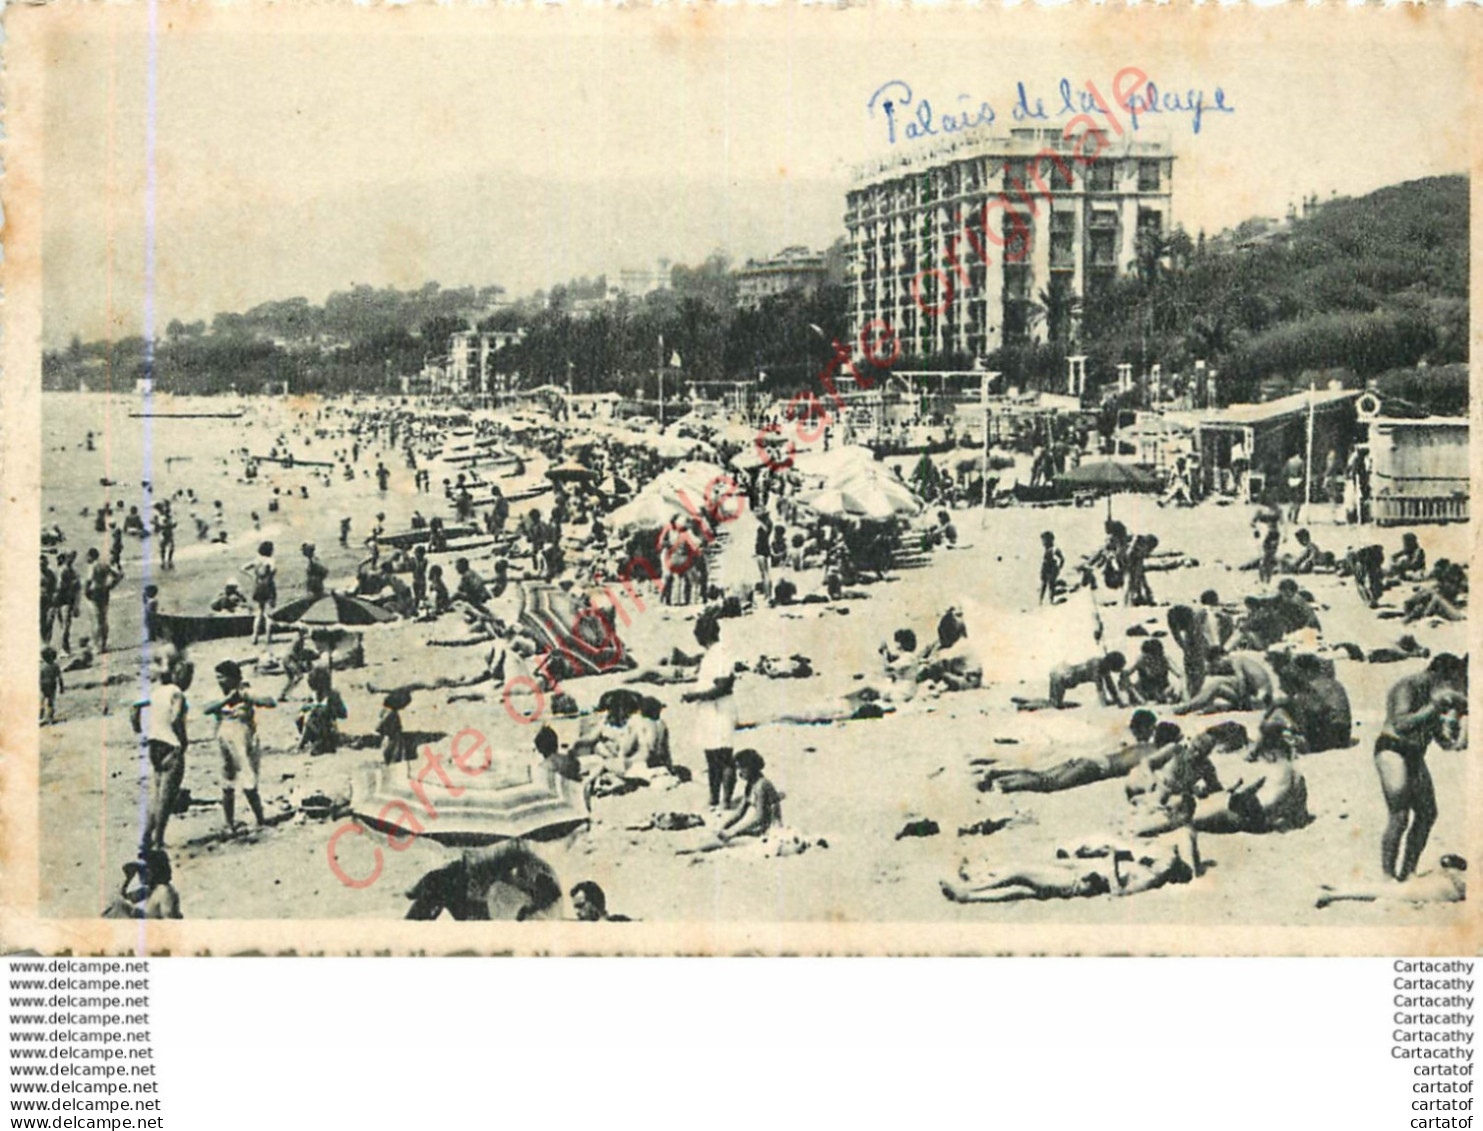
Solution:
{"label": "dark tree-covered hillside to the right of the large hotel", "polygon": [[1044,341],[1011,344],[989,368],[1047,384],[1084,353],[1103,384],[1120,362],[1188,375],[1203,359],[1223,402],[1247,402],[1305,387],[1315,371],[1363,384],[1468,357],[1465,176],[1312,202],[1307,216],[1210,240],[1140,236],[1129,267],[1083,304],[1041,292],[1025,320],[1047,328]]}

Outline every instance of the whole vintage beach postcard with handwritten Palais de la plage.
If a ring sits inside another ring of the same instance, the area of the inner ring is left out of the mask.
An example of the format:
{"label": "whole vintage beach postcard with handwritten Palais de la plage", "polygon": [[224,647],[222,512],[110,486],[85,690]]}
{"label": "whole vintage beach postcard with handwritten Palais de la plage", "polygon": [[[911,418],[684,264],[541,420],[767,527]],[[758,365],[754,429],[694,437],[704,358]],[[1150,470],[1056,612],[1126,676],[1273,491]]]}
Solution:
{"label": "whole vintage beach postcard with handwritten Palais de la plage", "polygon": [[1474,953],[1476,21],[10,7],[0,941]]}

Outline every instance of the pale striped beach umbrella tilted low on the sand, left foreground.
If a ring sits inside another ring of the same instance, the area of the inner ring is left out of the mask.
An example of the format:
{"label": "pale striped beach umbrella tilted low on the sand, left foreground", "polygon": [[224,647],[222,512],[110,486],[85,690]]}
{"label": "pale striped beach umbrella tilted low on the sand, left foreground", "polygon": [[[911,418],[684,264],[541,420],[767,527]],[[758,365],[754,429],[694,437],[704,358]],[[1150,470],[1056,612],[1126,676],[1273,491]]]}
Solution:
{"label": "pale striped beach umbrella tilted low on the sand, left foreground", "polygon": [[397,842],[415,835],[443,845],[546,840],[590,820],[580,787],[547,774],[529,752],[486,744],[460,754],[460,768],[449,772],[452,790],[423,772],[421,757],[362,765],[351,777],[350,811]]}

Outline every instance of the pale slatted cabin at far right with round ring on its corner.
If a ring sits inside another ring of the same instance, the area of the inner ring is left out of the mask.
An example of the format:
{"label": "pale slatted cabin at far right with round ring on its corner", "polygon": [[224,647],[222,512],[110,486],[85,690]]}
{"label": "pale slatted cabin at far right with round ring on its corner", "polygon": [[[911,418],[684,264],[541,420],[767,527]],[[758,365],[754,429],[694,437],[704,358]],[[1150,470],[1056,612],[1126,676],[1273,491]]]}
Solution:
{"label": "pale slatted cabin at far right with round ring on its corner", "polygon": [[1370,514],[1379,526],[1468,520],[1467,417],[1388,415],[1381,397],[1358,402],[1369,431]]}

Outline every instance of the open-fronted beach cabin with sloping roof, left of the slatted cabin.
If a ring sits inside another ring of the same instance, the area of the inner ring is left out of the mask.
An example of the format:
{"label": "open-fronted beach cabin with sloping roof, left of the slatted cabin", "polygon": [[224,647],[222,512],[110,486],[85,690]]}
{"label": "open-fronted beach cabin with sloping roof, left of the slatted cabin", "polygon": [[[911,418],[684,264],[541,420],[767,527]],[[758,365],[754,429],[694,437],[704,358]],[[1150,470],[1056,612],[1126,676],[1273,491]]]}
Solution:
{"label": "open-fronted beach cabin with sloping roof, left of the slatted cabin", "polygon": [[1348,388],[1318,388],[1259,405],[1166,412],[1164,418],[1195,431],[1203,494],[1262,500],[1271,488],[1274,498],[1286,500],[1283,464],[1293,455],[1307,462],[1311,454],[1317,500],[1330,452],[1342,471],[1354,446],[1358,396]]}

